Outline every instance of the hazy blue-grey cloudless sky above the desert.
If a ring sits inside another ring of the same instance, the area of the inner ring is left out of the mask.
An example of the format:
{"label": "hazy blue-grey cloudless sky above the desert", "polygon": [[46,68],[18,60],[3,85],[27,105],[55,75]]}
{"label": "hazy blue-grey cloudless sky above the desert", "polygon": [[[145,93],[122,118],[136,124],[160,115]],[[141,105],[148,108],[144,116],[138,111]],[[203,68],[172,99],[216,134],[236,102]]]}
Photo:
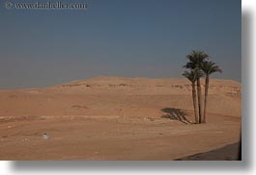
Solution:
{"label": "hazy blue-grey cloudless sky above the desert", "polygon": [[91,0],[86,11],[7,10],[1,1],[0,22],[0,88],[179,78],[193,49],[221,66],[213,77],[241,82],[241,0]]}

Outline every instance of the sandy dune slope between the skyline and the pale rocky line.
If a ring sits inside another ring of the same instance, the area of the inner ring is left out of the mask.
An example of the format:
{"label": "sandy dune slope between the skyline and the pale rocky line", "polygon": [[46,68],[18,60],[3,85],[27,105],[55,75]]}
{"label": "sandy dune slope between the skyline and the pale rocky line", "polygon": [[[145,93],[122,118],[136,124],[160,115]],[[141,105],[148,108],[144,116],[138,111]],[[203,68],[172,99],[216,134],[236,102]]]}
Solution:
{"label": "sandy dune slope between the skyline and the pale rocky line", "polygon": [[[241,116],[241,91],[238,82],[211,79],[208,112]],[[96,77],[55,87],[0,90],[0,94],[0,115],[117,114],[112,107],[192,110],[186,79]],[[104,108],[109,109],[100,112]]]}

